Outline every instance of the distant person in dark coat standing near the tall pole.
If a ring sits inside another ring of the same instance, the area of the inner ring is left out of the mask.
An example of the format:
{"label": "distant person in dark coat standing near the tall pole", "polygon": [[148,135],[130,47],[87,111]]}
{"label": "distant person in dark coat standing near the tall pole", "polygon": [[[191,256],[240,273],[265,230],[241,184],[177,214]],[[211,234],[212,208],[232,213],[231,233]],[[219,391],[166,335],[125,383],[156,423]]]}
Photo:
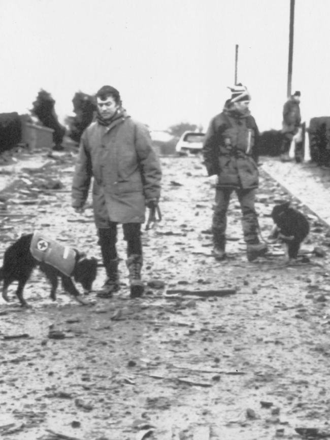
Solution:
{"label": "distant person in dark coat standing near the tall pole", "polygon": [[289,150],[293,137],[298,133],[301,123],[300,114],[300,91],[296,91],[283,106],[282,143],[280,158],[283,162],[290,160]]}

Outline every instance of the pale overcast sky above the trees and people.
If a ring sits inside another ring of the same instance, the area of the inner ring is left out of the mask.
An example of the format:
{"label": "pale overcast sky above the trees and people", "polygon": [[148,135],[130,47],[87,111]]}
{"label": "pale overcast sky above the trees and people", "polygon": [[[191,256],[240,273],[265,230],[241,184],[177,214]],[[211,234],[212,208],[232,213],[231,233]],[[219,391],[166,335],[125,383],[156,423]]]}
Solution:
{"label": "pale overcast sky above the trees and people", "polygon": [[[63,121],[105,84],[152,129],[206,128],[234,84],[261,130],[286,100],[289,0],[0,0],[0,112],[26,113],[44,88]],[[330,0],[296,0],[292,92],[307,122],[330,116]]]}

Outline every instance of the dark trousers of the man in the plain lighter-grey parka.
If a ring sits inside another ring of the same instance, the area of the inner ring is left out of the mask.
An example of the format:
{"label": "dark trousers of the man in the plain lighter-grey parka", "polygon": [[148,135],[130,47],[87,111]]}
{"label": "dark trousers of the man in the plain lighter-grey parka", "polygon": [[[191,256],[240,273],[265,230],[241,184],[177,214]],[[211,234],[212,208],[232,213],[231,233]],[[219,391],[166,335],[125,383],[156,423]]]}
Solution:
{"label": "dark trousers of the man in the plain lighter-grey parka", "polygon": [[[117,258],[117,224],[110,222],[110,227],[98,229],[101,253],[105,266]],[[124,223],[122,225],[124,240],[127,242],[127,256],[142,255],[141,223]]]}

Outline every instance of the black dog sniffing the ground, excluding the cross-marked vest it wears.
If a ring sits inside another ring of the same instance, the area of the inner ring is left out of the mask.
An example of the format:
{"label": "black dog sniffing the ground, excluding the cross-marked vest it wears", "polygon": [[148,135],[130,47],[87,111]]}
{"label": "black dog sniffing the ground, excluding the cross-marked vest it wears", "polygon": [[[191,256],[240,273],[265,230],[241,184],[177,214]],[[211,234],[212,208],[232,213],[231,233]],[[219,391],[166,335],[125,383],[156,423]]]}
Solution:
{"label": "black dog sniffing the ground, excluding the cross-marked vest it wears", "polygon": [[30,246],[34,234],[22,235],[17,242],[13,243],[5,252],[4,264],[0,269],[0,280],[4,280],[3,298],[8,301],[7,290],[8,286],[13,281],[18,281],[16,295],[22,307],[27,307],[27,302],[23,298],[23,289],[30,278],[32,270],[39,266],[41,271],[46,275],[51,283],[50,297],[53,301],[56,299],[56,289],[58,285],[58,277],[62,280],[62,287],[65,291],[72,294],[80,303],[85,302],[79,298],[79,291],[74,285],[71,277],[78,283],[81,283],[83,289],[87,292],[91,290],[92,283],[96,278],[96,258],[85,258],[85,254],[75,252],[74,268],[71,276],[64,275],[60,270],[47,264],[46,262],[38,261],[32,256]]}

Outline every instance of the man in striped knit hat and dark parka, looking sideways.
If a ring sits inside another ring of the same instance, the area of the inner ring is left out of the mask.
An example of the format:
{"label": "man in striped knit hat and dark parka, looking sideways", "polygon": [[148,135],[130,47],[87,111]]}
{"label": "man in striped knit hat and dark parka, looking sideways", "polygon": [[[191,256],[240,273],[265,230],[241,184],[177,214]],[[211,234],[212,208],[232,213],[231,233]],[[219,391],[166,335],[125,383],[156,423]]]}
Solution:
{"label": "man in striped knit hat and dark parka, looking sideways", "polygon": [[258,220],[254,208],[258,187],[258,128],[249,112],[250,94],[245,86],[229,87],[222,113],[212,118],[203,145],[204,163],[209,176],[217,175],[215,206],[212,220],[213,252],[218,260],[225,258],[226,213],[230,195],[236,191],[242,210],[247,258],[253,261],[267,252],[259,242]]}

